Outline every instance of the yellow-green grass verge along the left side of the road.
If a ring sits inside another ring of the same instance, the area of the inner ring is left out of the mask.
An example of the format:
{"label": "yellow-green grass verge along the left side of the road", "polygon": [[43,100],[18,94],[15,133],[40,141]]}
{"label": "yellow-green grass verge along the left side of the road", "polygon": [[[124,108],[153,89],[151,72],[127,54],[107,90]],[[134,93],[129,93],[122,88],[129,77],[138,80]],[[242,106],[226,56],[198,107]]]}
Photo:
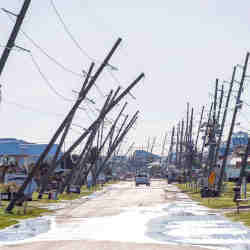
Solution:
{"label": "yellow-green grass verge along the left side of the road", "polygon": [[[108,186],[117,182],[110,181],[103,186]],[[1,190],[0,186],[0,190]],[[38,199],[38,192],[34,192],[32,196],[32,201],[28,201],[23,204],[23,206],[15,206],[12,213],[5,213],[5,208],[8,205],[8,201],[1,201],[0,205],[0,229],[6,228],[8,226],[19,223],[20,220],[35,218],[41,216],[45,213],[53,213],[53,211],[41,208],[44,204],[58,203],[65,200],[75,200],[84,196],[91,195],[96,191],[102,190],[102,185],[98,184],[94,187],[88,189],[86,186],[82,186],[81,193],[63,193],[58,196],[58,200],[49,200],[48,195],[44,194],[42,199]]]}

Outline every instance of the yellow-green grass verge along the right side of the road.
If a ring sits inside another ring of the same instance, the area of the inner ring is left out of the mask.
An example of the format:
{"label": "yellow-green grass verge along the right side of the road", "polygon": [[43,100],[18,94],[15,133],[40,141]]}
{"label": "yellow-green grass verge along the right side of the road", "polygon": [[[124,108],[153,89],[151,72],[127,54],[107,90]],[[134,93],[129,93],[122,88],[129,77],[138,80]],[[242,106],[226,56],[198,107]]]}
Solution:
{"label": "yellow-green grass verge along the right side of the road", "polygon": [[[233,187],[235,183],[226,182],[225,191],[222,193],[221,197],[211,197],[211,198],[201,198],[200,190],[194,190],[189,184],[177,184],[177,187],[186,193],[191,199],[199,202],[199,204],[213,209],[235,209],[236,204],[233,201],[234,192]],[[247,193],[250,193],[250,183],[247,184]],[[250,201],[249,204],[250,205]],[[246,226],[250,226],[250,211],[240,210],[237,214],[236,210],[233,212],[226,212],[224,214],[226,217],[230,218],[232,221],[239,221],[244,223]]]}

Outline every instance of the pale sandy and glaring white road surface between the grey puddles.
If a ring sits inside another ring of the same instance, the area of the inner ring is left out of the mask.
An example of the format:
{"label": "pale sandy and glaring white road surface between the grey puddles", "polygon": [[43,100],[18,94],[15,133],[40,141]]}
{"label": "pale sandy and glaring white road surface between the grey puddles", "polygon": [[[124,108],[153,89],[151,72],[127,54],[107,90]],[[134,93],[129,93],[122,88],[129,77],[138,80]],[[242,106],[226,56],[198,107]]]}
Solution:
{"label": "pale sandy and glaring white road surface between the grey puddles", "polygon": [[145,236],[147,213],[148,218],[157,217],[154,207],[175,201],[175,193],[166,195],[165,188],[162,180],[153,180],[150,187],[135,187],[133,181],[114,185],[96,198],[56,212],[48,233],[25,243],[2,246],[1,250],[205,249],[161,244]]}

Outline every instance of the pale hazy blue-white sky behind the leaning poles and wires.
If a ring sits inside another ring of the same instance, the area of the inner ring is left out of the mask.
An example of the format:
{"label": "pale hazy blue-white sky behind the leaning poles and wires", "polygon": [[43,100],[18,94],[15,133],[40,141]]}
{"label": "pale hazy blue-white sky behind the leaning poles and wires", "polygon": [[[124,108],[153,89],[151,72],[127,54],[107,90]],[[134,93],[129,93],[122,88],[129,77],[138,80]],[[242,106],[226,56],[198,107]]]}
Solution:
{"label": "pale hazy blue-white sky behind the leaning poles and wires", "polygon": [[[0,7],[17,13],[22,2],[3,0]],[[157,136],[159,145],[155,152],[161,151],[164,133],[185,117],[186,103],[194,107],[198,120],[202,105],[211,100],[209,92],[213,92],[215,79],[229,80],[234,64],[242,64],[250,49],[248,1],[53,0],[88,56],[69,39],[50,2],[33,0],[22,28],[50,56],[74,72],[86,70],[91,63],[89,57],[101,61],[116,39],[123,39],[111,60],[119,69],[113,73],[124,87],[141,72],[146,74],[145,80],[133,90],[136,100],[126,98],[127,113],[132,115],[140,110],[137,129],[130,133],[128,143],[135,141],[137,146],[146,146],[148,137]],[[0,12],[0,45],[7,42],[12,26],[12,21]],[[72,89],[81,86],[78,76],[59,68],[22,33],[17,44],[32,51],[58,92],[75,98]],[[72,103],[50,90],[31,56],[24,52],[12,51],[0,81],[3,85],[0,137],[46,143]],[[104,94],[117,85],[107,70],[98,81]],[[247,85],[245,101],[249,98]],[[96,89],[89,97],[100,107],[103,98]],[[245,129],[249,124],[248,109],[245,106],[238,119]],[[94,119],[95,115],[89,115]],[[81,111],[74,122],[87,127],[90,118]],[[77,136],[76,131],[71,131],[66,147]]]}

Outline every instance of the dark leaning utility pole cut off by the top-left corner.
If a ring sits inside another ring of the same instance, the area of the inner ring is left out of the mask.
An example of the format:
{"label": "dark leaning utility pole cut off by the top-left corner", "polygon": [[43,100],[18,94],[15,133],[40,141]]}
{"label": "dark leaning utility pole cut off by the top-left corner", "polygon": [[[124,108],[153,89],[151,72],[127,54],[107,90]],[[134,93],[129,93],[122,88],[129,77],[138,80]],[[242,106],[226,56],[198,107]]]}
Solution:
{"label": "dark leaning utility pole cut off by the top-left corner", "polygon": [[2,54],[2,56],[0,58],[0,76],[2,75],[4,66],[6,64],[6,61],[8,60],[10,51],[12,50],[13,47],[15,47],[15,41],[16,41],[17,35],[19,33],[19,30],[21,28],[21,25],[23,23],[24,17],[25,17],[25,15],[27,13],[27,10],[28,10],[28,8],[30,6],[30,2],[31,2],[31,0],[25,0],[24,1],[22,9],[21,9],[21,11],[19,12],[18,15],[15,15],[14,13],[3,9],[3,11],[5,11],[6,13],[15,15],[17,17],[17,19],[16,19],[15,25],[14,25],[14,27],[12,29],[12,32],[10,34],[10,38],[9,38],[9,40],[7,42],[7,45],[5,46],[3,54]]}

